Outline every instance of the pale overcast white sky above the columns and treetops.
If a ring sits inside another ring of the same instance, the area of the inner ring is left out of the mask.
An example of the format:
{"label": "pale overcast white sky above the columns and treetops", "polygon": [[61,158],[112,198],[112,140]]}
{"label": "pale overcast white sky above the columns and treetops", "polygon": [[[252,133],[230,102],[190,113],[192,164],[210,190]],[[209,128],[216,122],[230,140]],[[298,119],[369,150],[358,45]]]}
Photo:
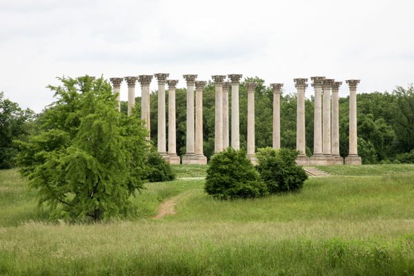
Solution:
{"label": "pale overcast white sky above the columns and treetops", "polygon": [[184,87],[183,74],[240,73],[286,93],[293,78],[321,75],[392,91],[414,82],[413,10],[408,0],[0,0],[0,90],[37,112],[63,75],[169,72]]}

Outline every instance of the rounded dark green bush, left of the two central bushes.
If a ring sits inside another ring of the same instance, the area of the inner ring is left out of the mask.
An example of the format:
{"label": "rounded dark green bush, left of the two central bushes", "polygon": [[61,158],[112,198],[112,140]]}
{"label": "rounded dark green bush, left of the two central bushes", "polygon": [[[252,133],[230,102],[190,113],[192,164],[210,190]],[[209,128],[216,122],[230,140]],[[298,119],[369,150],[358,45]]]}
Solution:
{"label": "rounded dark green bush, left of the two central bushes", "polygon": [[213,155],[207,170],[205,190],[218,199],[252,198],[268,194],[266,184],[246,153],[233,148]]}

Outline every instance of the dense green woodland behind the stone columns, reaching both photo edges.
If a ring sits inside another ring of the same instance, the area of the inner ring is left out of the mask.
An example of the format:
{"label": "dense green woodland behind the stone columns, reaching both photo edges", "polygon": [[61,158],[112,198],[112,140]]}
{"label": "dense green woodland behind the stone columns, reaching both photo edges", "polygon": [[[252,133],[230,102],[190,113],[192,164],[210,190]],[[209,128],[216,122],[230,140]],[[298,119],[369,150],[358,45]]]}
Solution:
{"label": "dense green woodland behind the stone columns, reaching both photo edges", "polygon": [[[247,90],[246,81],[258,83],[255,90],[255,138],[256,147],[272,145],[273,90],[264,86],[258,77],[246,78],[239,88],[240,146],[246,148],[247,137]],[[139,90],[139,86],[137,86]],[[231,98],[231,91],[229,93]],[[157,144],[157,91],[152,91],[151,139]],[[140,97],[136,98],[140,110]],[[229,100],[231,104],[231,99]],[[306,99],[306,146],[307,154],[313,152],[313,98]],[[121,112],[126,112],[126,102]],[[168,110],[168,90],[166,91]],[[177,153],[186,152],[186,89],[176,90]],[[21,110],[17,103],[0,96],[0,168],[12,166],[16,153],[13,139],[24,139],[36,131],[37,118],[30,110]],[[204,154],[210,158],[214,152],[215,86],[209,81],[203,93]],[[231,120],[231,114],[230,120]],[[168,118],[168,115],[167,115]],[[398,86],[393,92],[371,92],[357,95],[358,152],[364,164],[388,162],[414,163],[414,88]],[[168,128],[168,121],[167,121]],[[348,154],[348,97],[339,99],[340,153]],[[296,97],[294,92],[284,92],[281,97],[281,144],[284,148],[296,146]]]}

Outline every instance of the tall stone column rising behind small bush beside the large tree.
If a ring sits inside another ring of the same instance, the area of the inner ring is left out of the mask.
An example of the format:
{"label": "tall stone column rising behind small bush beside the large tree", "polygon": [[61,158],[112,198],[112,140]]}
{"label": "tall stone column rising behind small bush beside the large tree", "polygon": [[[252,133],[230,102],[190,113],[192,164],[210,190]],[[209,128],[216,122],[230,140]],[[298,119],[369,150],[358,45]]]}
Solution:
{"label": "tall stone column rising behind small bush beside the large tree", "polygon": [[166,79],[170,74],[157,73],[154,77],[158,81],[158,129],[157,129],[157,148],[158,153],[167,158],[166,145]]}

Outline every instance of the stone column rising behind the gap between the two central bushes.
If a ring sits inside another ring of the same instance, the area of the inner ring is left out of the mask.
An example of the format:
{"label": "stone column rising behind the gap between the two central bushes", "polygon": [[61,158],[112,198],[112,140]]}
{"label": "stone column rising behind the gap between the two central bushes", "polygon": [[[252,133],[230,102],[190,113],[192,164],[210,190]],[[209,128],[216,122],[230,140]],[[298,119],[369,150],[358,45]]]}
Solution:
{"label": "stone column rising behind the gap between the two central bushes", "polygon": [[257,83],[246,83],[247,88],[247,157],[257,165],[255,157],[255,88]]}

